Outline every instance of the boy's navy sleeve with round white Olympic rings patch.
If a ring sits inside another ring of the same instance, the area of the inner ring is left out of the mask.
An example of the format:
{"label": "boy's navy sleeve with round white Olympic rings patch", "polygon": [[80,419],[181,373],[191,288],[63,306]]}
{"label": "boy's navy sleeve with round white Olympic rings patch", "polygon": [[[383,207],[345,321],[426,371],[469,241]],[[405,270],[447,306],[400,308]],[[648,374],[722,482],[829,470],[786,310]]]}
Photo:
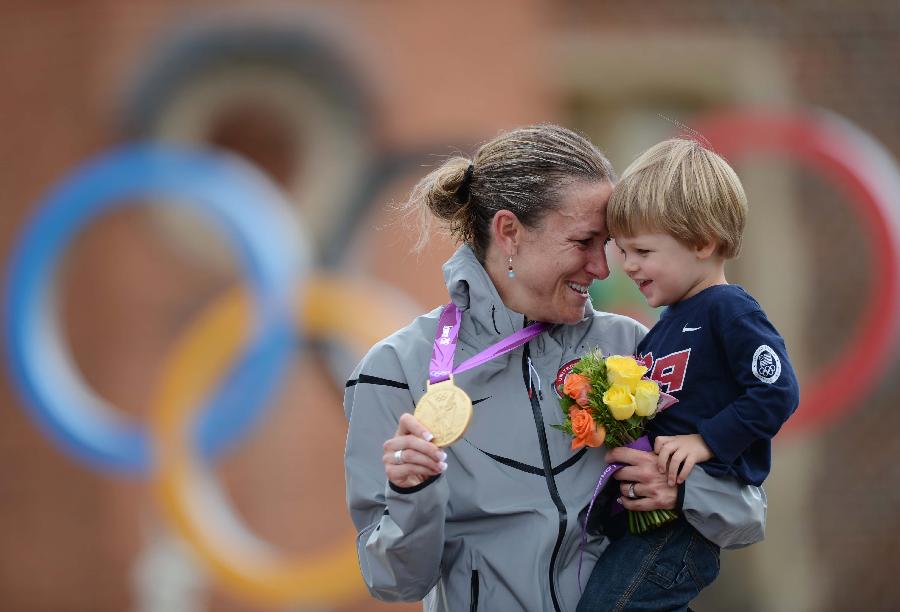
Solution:
{"label": "boy's navy sleeve with round white Olympic rings patch", "polygon": [[743,393],[698,431],[715,457],[733,463],[756,440],[771,439],[797,408],[800,389],[784,340],[761,311],[718,326],[728,367]]}

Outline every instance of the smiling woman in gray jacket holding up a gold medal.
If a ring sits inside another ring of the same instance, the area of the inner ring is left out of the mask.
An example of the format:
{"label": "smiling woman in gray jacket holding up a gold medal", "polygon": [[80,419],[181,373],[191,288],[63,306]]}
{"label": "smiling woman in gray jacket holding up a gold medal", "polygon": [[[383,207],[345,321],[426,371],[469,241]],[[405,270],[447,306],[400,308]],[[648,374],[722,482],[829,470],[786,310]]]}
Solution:
{"label": "smiling woman in gray jacket holding up a gold medal", "polygon": [[[531,321],[553,325],[454,377],[475,408],[465,436],[444,449],[410,414],[426,390],[443,307],[377,344],[357,366],[345,396],[347,498],[360,566],[376,597],[424,598],[429,610],[479,603],[574,610],[579,515],[605,461],[630,464],[618,477],[637,483],[640,499],[623,495],[626,508],[681,507],[722,546],[762,538],[761,489],[695,470],[679,491],[651,454],[572,453],[569,437],[550,427],[562,420],[555,381],[567,364],[597,346],[633,354],[646,333],[631,319],[594,311],[588,297],[591,282],[609,274],[605,209],[613,180],[587,140],[538,125],[498,136],[472,160],[448,160],[413,192],[410,201],[463,243],[444,265],[462,312],[456,363]],[[605,545],[603,536],[588,537],[584,579]]]}

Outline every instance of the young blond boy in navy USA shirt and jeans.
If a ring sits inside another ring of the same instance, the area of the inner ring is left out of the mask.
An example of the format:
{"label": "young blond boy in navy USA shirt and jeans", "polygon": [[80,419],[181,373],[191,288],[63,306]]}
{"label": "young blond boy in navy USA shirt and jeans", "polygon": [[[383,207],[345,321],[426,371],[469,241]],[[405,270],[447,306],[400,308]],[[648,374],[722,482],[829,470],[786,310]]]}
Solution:
{"label": "young blond boy in navy USA shirt and jeans", "polygon": [[[762,484],[771,439],[799,403],[784,340],[756,300],[725,278],[746,215],[731,167],[684,139],[635,160],[607,209],[626,274],[651,306],[668,306],[638,345],[638,360],[679,399],[647,431],[670,484],[684,483],[697,464],[710,476]],[[640,493],[626,489],[627,497]],[[613,541],[578,609],[684,609],[718,571],[718,546],[680,517]]]}

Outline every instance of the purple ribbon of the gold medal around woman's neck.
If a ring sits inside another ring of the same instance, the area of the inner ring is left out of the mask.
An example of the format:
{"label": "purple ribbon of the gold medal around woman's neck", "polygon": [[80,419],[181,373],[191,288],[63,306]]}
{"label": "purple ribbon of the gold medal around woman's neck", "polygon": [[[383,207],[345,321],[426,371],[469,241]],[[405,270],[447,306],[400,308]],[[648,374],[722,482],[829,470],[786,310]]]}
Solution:
{"label": "purple ribbon of the gold medal around woman's neck", "polygon": [[434,350],[431,352],[431,365],[428,369],[428,379],[431,384],[447,380],[451,374],[459,374],[460,372],[471,370],[483,363],[487,363],[494,357],[514,351],[550,329],[549,323],[532,323],[500,342],[492,344],[474,357],[469,357],[454,368],[453,355],[456,353],[461,321],[462,313],[456,307],[456,304],[453,302],[447,304],[438,319],[438,328],[434,335]]}

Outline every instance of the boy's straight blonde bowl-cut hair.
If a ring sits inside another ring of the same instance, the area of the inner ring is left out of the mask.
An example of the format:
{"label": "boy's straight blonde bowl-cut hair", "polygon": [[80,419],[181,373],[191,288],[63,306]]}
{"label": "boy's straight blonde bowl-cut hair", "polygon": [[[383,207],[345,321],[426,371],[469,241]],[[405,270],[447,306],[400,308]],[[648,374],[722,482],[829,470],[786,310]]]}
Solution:
{"label": "boy's straight blonde bowl-cut hair", "polygon": [[728,163],[694,140],[672,138],[638,157],[613,189],[613,237],[661,231],[690,247],[710,241],[726,259],[741,252],[747,196]]}

